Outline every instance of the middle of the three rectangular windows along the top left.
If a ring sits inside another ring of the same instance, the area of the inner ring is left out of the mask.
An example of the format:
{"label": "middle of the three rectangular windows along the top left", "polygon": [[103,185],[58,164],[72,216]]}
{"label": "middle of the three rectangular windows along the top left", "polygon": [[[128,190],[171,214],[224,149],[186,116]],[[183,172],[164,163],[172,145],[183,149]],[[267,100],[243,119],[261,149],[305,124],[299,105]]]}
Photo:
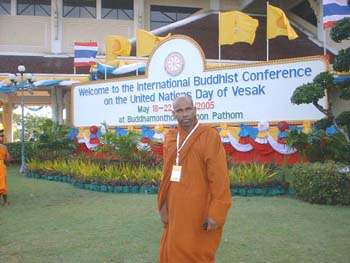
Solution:
{"label": "middle of the three rectangular windows along the top left", "polygon": [[96,0],[63,0],[63,17],[96,18]]}

